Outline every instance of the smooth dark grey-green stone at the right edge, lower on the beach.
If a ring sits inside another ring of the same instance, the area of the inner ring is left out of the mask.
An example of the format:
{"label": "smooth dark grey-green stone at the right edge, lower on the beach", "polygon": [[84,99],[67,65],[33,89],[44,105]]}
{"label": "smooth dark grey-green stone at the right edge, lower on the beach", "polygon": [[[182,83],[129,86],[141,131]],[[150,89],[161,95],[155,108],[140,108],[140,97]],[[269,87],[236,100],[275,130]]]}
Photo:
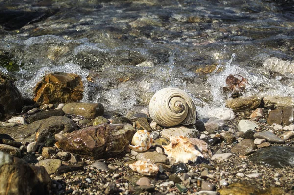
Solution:
{"label": "smooth dark grey-green stone at the right edge, lower on the beach", "polygon": [[285,166],[293,168],[293,156],[293,146],[270,146],[259,149],[249,159],[254,163],[267,164],[275,168],[283,168]]}

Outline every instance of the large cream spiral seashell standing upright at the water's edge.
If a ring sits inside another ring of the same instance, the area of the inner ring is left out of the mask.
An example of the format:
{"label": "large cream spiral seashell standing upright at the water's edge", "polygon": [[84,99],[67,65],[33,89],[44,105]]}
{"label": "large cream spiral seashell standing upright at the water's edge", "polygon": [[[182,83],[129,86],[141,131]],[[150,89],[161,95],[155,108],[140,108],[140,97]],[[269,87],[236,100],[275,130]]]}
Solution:
{"label": "large cream spiral seashell standing upright at the water's edge", "polygon": [[185,91],[172,87],[153,95],[149,113],[157,124],[165,127],[194,124],[196,120],[196,107],[191,97]]}

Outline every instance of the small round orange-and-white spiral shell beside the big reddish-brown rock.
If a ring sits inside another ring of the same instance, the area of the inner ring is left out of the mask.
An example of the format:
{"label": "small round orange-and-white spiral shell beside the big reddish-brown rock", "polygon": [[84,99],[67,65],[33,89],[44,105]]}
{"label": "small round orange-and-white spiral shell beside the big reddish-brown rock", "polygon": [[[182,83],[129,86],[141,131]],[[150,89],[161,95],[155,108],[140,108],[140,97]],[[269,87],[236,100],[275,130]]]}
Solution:
{"label": "small round orange-and-white spiral shell beside the big reddish-brown rock", "polygon": [[146,130],[138,130],[132,139],[132,145],[129,145],[130,149],[134,151],[147,151],[152,145],[153,139],[150,133]]}

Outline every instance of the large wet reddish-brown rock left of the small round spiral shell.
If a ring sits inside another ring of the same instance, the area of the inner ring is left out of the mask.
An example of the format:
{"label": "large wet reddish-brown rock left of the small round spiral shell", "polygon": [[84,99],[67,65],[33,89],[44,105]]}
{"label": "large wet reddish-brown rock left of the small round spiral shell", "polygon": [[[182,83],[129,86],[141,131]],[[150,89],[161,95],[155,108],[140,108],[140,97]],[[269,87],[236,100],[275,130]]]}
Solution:
{"label": "large wet reddish-brown rock left of the small round spiral shell", "polygon": [[74,131],[58,143],[67,152],[94,160],[123,152],[135,132],[128,123],[101,124]]}

